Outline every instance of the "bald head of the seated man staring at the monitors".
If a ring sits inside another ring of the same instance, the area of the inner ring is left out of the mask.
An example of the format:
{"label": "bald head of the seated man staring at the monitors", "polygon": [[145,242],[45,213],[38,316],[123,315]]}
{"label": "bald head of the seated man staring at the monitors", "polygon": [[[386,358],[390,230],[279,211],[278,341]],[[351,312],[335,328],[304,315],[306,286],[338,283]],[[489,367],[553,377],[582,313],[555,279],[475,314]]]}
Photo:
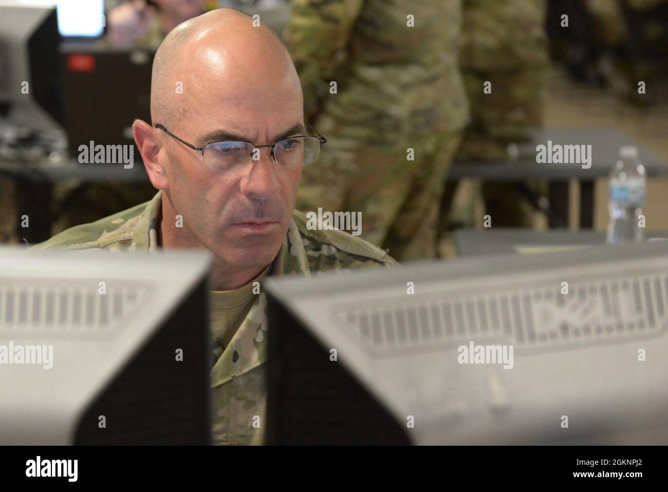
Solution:
{"label": "bald head of the seated man staring at the monitors", "polygon": [[[218,9],[182,23],[160,45],[151,118],[197,147],[216,140],[273,144],[303,134],[285,135],[303,124],[301,84],[270,29]],[[221,173],[204,166],[202,152],[145,122],[135,122],[134,138],[152,184],[164,193],[162,231],[174,227],[174,215],[183,217],[182,229],[172,231],[175,243],[210,249],[224,268],[271,263],[291,220],[301,168],[281,168],[265,147],[246,168]]]}

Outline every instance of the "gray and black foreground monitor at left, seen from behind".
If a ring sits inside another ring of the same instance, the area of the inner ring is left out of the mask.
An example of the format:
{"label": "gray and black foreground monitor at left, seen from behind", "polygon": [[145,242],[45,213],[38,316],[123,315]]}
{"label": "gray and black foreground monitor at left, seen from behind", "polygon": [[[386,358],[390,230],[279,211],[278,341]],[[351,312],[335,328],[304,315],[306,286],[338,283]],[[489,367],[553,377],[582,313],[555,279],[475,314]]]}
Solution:
{"label": "gray and black foreground monitor at left, seen from behind", "polygon": [[206,253],[0,249],[0,445],[210,443]]}

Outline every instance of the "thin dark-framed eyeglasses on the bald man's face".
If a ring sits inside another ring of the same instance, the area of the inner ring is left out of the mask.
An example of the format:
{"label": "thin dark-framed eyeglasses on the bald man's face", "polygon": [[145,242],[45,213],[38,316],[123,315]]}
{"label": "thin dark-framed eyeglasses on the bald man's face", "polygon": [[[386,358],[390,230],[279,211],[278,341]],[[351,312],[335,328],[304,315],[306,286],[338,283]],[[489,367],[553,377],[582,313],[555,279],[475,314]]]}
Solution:
{"label": "thin dark-framed eyeglasses on the bald man's face", "polygon": [[234,172],[242,170],[255,160],[260,160],[260,149],[263,147],[271,147],[271,156],[281,167],[302,167],[313,163],[320,155],[321,146],[327,142],[327,139],[313,126],[308,123],[306,125],[317,134],[317,137],[297,135],[267,145],[233,141],[209,142],[203,147],[196,147],[178,138],[161,124],[156,124],[156,128],[160,128],[192,150],[202,152],[204,165],[209,169],[218,172]]}

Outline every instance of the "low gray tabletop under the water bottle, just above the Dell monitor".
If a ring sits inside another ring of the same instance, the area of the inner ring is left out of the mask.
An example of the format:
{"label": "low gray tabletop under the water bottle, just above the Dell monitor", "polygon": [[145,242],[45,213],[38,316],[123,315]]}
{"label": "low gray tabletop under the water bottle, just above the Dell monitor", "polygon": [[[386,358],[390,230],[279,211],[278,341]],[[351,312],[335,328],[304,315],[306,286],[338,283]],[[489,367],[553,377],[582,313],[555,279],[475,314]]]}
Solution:
{"label": "low gray tabletop under the water bottle, just above the Dell monitor", "polygon": [[[668,232],[645,233],[647,239],[668,239]],[[534,248],[548,247],[587,247],[605,245],[605,233],[598,231],[570,231],[568,229],[549,229],[533,231],[506,227],[460,229],[454,232],[457,252],[461,257],[498,255],[504,253],[530,252]]]}

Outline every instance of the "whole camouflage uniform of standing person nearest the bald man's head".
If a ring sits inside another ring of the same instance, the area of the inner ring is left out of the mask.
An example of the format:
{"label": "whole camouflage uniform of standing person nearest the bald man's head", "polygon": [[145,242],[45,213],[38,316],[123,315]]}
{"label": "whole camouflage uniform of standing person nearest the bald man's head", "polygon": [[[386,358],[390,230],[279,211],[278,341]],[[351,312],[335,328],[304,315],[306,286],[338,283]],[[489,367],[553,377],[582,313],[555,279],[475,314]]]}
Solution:
{"label": "whole camouflage uniform of standing person nearest the bald man's head", "polygon": [[317,114],[328,139],[304,168],[297,209],[360,211],[362,237],[397,259],[435,255],[444,182],[469,117],[460,21],[461,0],[293,1],[287,47],[307,119]]}

